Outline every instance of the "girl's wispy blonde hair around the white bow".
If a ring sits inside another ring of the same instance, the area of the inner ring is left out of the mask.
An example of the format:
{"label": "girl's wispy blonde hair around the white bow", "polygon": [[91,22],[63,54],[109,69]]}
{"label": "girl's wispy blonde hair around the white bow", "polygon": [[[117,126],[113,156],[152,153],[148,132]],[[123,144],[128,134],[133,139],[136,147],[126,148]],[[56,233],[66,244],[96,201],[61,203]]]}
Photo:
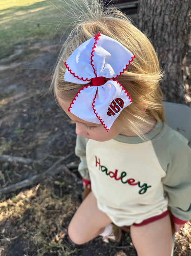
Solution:
{"label": "girl's wispy blonde hair around the white bow", "polygon": [[115,123],[120,127],[122,125],[124,130],[128,127],[138,136],[142,136],[141,130],[150,122],[151,117],[158,122],[165,121],[163,95],[159,87],[162,73],[156,52],[148,38],[130,22],[124,13],[114,8],[104,9],[97,0],[92,1],[91,6],[87,1],[83,2],[86,3],[86,10],[83,9],[83,21],[73,28],[63,45],[54,71],[52,87],[55,96],[72,101],[82,87],[64,80],[66,71],[64,62],[72,52],[99,32],[112,37],[135,55],[128,69],[117,78],[117,81],[129,92],[133,103],[123,109]]}

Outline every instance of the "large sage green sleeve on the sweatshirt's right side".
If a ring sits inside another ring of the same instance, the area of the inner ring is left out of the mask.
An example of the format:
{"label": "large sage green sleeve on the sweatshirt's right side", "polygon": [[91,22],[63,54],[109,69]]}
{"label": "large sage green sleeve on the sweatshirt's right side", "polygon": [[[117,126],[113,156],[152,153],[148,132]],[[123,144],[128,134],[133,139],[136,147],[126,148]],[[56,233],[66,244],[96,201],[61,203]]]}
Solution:
{"label": "large sage green sleeve on the sweatshirt's right side", "polygon": [[191,219],[191,148],[176,131],[167,132],[153,143],[158,160],[166,171],[162,178],[172,214],[181,220]]}

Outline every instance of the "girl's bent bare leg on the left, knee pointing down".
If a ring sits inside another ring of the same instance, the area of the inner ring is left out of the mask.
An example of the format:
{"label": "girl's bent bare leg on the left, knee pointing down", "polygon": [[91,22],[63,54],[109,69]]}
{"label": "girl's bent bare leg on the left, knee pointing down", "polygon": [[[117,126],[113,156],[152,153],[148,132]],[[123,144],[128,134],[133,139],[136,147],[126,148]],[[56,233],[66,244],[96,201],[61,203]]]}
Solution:
{"label": "girl's bent bare leg on the left, knee pointing down", "polygon": [[110,223],[109,217],[97,208],[97,200],[90,192],[73,216],[68,234],[74,243],[86,243],[102,233]]}

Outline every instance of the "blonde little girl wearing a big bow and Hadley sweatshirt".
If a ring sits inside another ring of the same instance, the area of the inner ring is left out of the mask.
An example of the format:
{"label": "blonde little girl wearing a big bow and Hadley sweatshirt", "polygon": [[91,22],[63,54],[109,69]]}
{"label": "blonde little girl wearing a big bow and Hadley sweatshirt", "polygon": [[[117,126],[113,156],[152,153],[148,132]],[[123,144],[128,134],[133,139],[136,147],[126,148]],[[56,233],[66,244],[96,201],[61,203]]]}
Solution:
{"label": "blonde little girl wearing a big bow and Hadley sweatshirt", "polygon": [[94,2],[68,37],[54,72],[58,104],[76,123],[83,187],[91,192],[68,227],[77,244],[119,241],[131,226],[138,256],[171,254],[191,219],[191,150],[164,120],[161,72],[147,39],[117,10]]}

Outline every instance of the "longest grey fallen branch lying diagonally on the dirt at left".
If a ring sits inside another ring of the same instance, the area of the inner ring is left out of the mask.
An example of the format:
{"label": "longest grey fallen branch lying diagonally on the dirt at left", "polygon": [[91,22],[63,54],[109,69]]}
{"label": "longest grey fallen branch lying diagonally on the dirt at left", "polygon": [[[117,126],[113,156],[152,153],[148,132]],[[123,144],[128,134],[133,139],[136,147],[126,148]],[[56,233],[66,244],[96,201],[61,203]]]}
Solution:
{"label": "longest grey fallen branch lying diagonally on the dirt at left", "polygon": [[[68,154],[66,157],[59,159],[51,167],[49,167],[46,171],[44,171],[41,174],[34,175],[34,176],[30,177],[29,179],[22,180],[16,184],[13,184],[8,187],[0,189],[0,196],[2,196],[3,194],[7,194],[9,192],[16,191],[21,188],[28,187],[30,185],[34,185],[35,183],[38,183],[51,175],[58,174],[59,172],[61,172],[63,170],[63,166],[59,166],[58,168],[55,168],[56,165],[58,165],[62,161],[69,158],[72,154],[73,153]],[[77,177],[75,177],[75,178],[77,178]]]}

